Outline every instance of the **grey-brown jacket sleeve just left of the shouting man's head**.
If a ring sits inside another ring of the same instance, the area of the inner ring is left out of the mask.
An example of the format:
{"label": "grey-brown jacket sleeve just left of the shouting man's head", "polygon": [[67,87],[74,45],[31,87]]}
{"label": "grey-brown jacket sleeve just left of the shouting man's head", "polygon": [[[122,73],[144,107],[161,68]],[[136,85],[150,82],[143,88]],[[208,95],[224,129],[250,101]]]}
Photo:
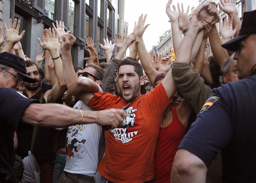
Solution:
{"label": "grey-brown jacket sleeve just left of the shouting man's head", "polygon": [[112,58],[109,62],[105,64],[103,80],[101,83],[101,88],[104,92],[109,92],[112,95],[116,93],[115,77],[117,76],[118,66],[120,62],[121,60]]}

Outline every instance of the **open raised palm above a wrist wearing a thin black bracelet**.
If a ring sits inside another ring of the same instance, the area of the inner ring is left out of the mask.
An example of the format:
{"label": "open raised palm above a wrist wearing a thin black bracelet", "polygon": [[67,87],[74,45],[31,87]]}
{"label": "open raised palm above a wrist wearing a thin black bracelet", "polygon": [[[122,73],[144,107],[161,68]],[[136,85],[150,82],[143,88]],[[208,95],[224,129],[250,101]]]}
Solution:
{"label": "open raised palm above a wrist wearing a thin black bracelet", "polygon": [[44,29],[43,31],[43,44],[46,49],[58,50],[58,32],[52,29],[51,27],[48,29]]}

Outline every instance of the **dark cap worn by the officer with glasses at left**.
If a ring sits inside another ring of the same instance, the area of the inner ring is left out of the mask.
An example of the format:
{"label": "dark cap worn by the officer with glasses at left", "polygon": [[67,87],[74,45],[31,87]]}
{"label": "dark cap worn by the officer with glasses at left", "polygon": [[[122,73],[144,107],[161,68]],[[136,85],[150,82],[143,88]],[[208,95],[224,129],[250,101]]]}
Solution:
{"label": "dark cap worn by the officer with glasses at left", "polygon": [[36,80],[27,75],[26,64],[23,58],[9,52],[0,53],[0,64],[11,67],[24,76],[23,81],[36,83]]}

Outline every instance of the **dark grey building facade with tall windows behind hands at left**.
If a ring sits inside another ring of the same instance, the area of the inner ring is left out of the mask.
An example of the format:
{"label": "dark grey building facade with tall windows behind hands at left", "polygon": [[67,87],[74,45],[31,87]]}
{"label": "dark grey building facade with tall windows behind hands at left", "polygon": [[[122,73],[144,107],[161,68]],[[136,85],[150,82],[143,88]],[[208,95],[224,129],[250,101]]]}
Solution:
{"label": "dark grey building facade with tall windows behind hands at left", "polygon": [[105,53],[98,44],[103,44],[103,38],[111,40],[115,33],[123,32],[121,15],[124,15],[124,0],[0,0],[1,26],[9,18],[20,20],[20,32],[26,31],[22,48],[32,61],[42,49],[36,38],[42,40],[43,30],[52,27],[55,20],[64,21],[65,30],[76,36],[71,49],[74,66],[84,67],[84,61],[89,60],[85,50],[87,37],[92,37],[99,59],[104,60]]}

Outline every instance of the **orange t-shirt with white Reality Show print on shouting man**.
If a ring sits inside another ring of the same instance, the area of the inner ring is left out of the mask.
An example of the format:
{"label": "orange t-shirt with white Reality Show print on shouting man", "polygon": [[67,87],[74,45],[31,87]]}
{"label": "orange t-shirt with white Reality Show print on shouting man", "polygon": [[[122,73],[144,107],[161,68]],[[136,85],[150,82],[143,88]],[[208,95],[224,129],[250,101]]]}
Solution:
{"label": "orange t-shirt with white Reality Show print on shouting man", "polygon": [[[129,102],[110,93],[94,93],[93,110],[121,108]],[[154,178],[156,140],[165,108],[172,102],[162,84],[126,109],[125,126],[105,131],[106,148],[98,171],[115,183],[142,183]]]}

